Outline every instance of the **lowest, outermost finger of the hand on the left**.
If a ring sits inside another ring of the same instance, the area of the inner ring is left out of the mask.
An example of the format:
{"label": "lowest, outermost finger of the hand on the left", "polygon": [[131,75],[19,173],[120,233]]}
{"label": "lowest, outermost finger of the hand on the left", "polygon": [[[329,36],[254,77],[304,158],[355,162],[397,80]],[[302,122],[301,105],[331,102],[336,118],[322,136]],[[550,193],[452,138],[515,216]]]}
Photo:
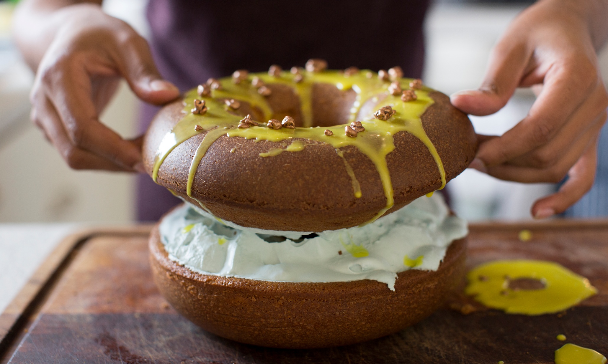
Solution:
{"label": "lowest, outermost finger of the hand on the left", "polygon": [[44,136],[57,147],[61,157],[72,169],[131,170],[74,146],[48,99],[36,103],[36,109],[32,111],[32,121],[43,130]]}

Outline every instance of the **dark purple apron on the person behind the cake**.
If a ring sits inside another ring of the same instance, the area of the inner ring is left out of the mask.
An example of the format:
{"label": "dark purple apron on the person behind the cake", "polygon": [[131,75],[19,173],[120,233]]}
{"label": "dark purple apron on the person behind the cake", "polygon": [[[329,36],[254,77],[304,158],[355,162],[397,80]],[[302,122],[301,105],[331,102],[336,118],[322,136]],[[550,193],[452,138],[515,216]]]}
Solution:
{"label": "dark purple apron on the person behind the cake", "polygon": [[[420,77],[428,0],[150,0],[150,45],[161,75],[184,92],[237,69],[304,66],[331,69],[401,66]],[[158,108],[144,104],[140,131]],[[158,220],[180,200],[148,175],[137,177],[137,220]]]}

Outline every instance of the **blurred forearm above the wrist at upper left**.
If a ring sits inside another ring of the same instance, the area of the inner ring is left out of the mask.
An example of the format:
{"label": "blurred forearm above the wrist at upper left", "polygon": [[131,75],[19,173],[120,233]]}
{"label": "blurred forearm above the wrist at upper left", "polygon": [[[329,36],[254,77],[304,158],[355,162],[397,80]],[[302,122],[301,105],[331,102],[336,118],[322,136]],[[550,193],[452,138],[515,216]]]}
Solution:
{"label": "blurred forearm above the wrist at upper left", "polygon": [[80,12],[83,5],[98,7],[101,3],[102,0],[22,1],[13,19],[13,38],[32,70],[38,68],[62,24]]}

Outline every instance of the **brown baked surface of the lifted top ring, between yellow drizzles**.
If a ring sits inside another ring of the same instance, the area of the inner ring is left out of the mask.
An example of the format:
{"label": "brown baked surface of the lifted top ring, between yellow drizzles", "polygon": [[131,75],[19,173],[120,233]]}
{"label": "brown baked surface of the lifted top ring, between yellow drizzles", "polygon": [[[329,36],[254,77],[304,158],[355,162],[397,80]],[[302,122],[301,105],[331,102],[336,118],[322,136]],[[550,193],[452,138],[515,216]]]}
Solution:
{"label": "brown baked surface of the lifted top ring, between yellow drizzles", "polygon": [[[292,115],[300,123],[299,99],[283,85],[271,84],[268,98],[281,120]],[[319,126],[345,123],[352,90],[340,91],[329,84],[313,88],[314,123]],[[435,103],[421,116],[424,130],[435,145],[446,171],[446,181],[456,177],[471,163],[477,148],[469,118],[450,104],[440,92],[430,93]],[[163,136],[181,120],[182,101],[165,106],[154,118],[143,144],[143,161],[148,174]],[[362,106],[364,115],[367,105]],[[367,110],[370,111],[370,110]],[[241,115],[260,115],[246,103]],[[260,120],[260,116],[257,116]],[[333,121],[333,123],[332,123]],[[190,163],[206,132],[176,147],[165,159],[157,183],[188,198],[186,183]],[[390,212],[418,197],[437,190],[441,177],[435,160],[424,144],[407,132],[394,136],[395,150],[387,164],[395,191]],[[207,150],[196,170],[192,195],[215,215],[240,226],[275,231],[325,231],[357,226],[373,218],[386,205],[386,198],[375,165],[354,146],[344,147],[344,157],[361,184],[361,198],[355,198],[344,161],[330,144],[302,140],[305,149],[263,158],[259,153],[285,142],[246,140],[221,136]],[[235,152],[230,150],[235,148]]]}

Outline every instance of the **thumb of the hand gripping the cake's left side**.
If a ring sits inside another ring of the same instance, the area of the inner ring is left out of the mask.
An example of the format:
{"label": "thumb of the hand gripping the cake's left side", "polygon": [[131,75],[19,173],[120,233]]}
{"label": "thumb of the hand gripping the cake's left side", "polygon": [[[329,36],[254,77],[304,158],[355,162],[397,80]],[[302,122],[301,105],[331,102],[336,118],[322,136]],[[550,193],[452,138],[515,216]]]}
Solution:
{"label": "thumb of the hand gripping the cake's left side", "polygon": [[145,39],[134,39],[122,47],[120,52],[124,62],[122,75],[137,97],[155,105],[166,104],[178,98],[179,89],[162,78]]}

